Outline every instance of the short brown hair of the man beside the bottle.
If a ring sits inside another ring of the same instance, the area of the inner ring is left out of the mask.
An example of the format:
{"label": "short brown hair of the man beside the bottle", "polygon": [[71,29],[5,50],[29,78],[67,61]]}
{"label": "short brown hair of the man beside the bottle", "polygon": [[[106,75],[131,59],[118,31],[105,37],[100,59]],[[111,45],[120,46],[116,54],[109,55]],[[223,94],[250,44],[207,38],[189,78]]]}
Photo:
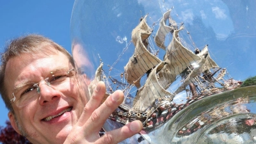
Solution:
{"label": "short brown hair of the man beside the bottle", "polygon": [[[45,47],[51,45],[54,49],[45,49]],[[46,38],[42,35],[30,34],[26,36],[20,36],[14,40],[11,40],[10,43],[5,47],[4,52],[1,54],[1,66],[0,66],[0,94],[4,100],[5,106],[9,111],[13,111],[12,104],[8,98],[8,92],[6,85],[4,83],[6,64],[11,58],[20,56],[20,54],[48,54],[49,52],[60,51],[65,54],[72,64],[75,67],[74,59],[71,54],[61,47],[61,45],[56,44],[49,38]]]}

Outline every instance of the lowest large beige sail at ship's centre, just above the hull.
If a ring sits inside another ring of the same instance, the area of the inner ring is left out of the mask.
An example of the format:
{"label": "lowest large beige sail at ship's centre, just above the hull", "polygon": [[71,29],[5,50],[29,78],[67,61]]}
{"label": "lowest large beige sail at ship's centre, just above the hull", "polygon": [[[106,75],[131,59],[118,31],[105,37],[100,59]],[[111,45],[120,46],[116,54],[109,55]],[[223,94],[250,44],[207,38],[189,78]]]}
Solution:
{"label": "lowest large beige sail at ship's centre, just above the hull", "polygon": [[134,110],[145,111],[148,107],[152,106],[159,97],[170,96],[170,98],[173,99],[174,95],[167,92],[158,82],[157,72],[163,67],[164,63],[159,63],[159,65],[150,72],[144,86],[138,89],[136,97],[134,98]]}

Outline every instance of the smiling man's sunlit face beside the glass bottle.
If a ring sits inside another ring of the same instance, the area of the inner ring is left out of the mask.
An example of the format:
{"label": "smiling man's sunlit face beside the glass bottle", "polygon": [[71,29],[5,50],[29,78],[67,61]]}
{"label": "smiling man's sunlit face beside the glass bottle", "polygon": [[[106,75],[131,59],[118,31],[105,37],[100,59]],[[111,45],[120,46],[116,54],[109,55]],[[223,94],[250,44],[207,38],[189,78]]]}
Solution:
{"label": "smiling man's sunlit face beside the glass bottle", "polygon": [[[13,98],[15,87],[26,83],[38,83],[58,68],[73,68],[67,56],[61,52],[35,56],[21,54],[10,59],[6,65],[4,79],[8,97]],[[19,108],[12,102],[17,122],[28,133],[28,140],[32,143],[63,143],[83,112],[86,104],[85,95],[79,94],[81,89],[71,80],[62,83],[61,88],[54,89],[45,84],[45,81],[40,82],[39,86],[40,96],[36,95],[38,98],[28,105]],[[8,116],[13,128],[20,133],[13,113],[9,113]]]}

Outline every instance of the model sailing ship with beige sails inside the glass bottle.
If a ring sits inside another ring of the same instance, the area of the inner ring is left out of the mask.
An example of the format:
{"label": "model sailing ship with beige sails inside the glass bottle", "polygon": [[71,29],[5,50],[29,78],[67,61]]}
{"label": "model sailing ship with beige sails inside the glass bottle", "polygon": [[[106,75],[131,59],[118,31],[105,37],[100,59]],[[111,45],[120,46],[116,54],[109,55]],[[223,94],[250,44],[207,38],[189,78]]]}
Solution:
{"label": "model sailing ship with beige sails inside the glass bottle", "polygon": [[[152,29],[146,22],[147,15],[141,19],[140,24],[132,31],[132,42],[135,45],[134,54],[124,67],[124,77],[127,83],[120,82],[113,77],[106,77],[102,70],[102,63],[97,69],[94,82],[107,81],[107,92],[113,92],[113,87],[119,87],[124,91],[126,98],[132,104],[123,102],[109,118],[127,124],[133,120],[141,120],[144,129],[156,129],[175,113],[185,108],[192,102],[210,96],[214,93],[232,90],[241,84],[234,79],[223,79],[227,75],[225,68],[220,68],[212,60],[207,45],[201,51],[189,50],[182,44],[179,32],[184,29],[183,24],[177,26],[175,20],[170,17],[171,10],[163,15],[154,40],[156,45],[166,51],[163,60],[157,57],[157,52],[150,52],[149,36]],[[168,24],[166,24],[168,22]],[[172,35],[172,42],[166,47],[164,45],[166,35]],[[160,50],[161,51],[161,50]],[[217,75],[217,76],[215,76]],[[145,84],[141,84],[141,78],[146,77]],[[170,92],[168,88],[181,77],[181,84],[177,90]],[[108,81],[107,81],[108,82]],[[95,83],[90,84],[92,92]],[[219,87],[216,87],[218,83]],[[134,98],[128,97],[129,90],[136,86]],[[173,97],[180,92],[188,93],[187,101],[183,104],[175,104]],[[108,97],[106,93],[106,97]]]}

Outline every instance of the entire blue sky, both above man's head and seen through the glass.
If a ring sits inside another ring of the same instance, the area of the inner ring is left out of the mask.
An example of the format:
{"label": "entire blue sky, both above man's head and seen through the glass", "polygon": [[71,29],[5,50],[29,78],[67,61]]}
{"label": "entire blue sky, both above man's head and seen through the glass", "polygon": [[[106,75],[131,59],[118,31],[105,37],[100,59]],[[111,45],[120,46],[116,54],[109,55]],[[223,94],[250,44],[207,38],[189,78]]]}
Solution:
{"label": "entire blue sky, both above man's head and seen through the glass", "polygon": [[[244,81],[256,75],[256,11],[252,1],[127,1],[86,1],[87,7],[81,6],[86,14],[82,13],[81,17],[77,15],[82,23],[75,24],[82,28],[76,32],[90,47],[91,57],[95,59],[92,61],[99,63],[100,56],[105,64],[112,65],[127,44],[126,41],[121,44],[120,38],[127,38],[127,42],[130,42],[131,31],[141,16],[148,13],[147,20],[152,26],[163,16],[166,8],[174,6],[173,19],[184,22],[197,47],[209,44],[212,59],[220,67],[226,67],[234,79]],[[0,0],[0,3],[0,52],[3,52],[6,41],[28,33],[47,36],[70,51],[70,17],[74,0],[26,0],[15,3]],[[132,54],[133,51],[131,44],[126,52]],[[122,68],[131,54],[127,59],[125,56],[120,59],[120,62],[124,61]],[[0,113],[0,125],[5,125],[8,111],[2,99]]]}

